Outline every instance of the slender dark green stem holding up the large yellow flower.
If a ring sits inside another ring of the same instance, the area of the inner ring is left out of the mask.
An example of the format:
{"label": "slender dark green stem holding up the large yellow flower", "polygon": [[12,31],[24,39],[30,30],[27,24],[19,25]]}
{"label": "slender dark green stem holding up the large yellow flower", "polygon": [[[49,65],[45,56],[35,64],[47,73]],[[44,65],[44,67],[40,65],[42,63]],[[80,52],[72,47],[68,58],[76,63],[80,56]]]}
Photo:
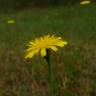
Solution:
{"label": "slender dark green stem holding up the large yellow flower", "polygon": [[48,64],[50,92],[51,92],[51,96],[55,96],[54,75],[53,75],[53,68],[52,68],[52,64],[51,64],[50,50],[47,49],[46,52],[47,52],[47,55],[46,55],[45,59]]}

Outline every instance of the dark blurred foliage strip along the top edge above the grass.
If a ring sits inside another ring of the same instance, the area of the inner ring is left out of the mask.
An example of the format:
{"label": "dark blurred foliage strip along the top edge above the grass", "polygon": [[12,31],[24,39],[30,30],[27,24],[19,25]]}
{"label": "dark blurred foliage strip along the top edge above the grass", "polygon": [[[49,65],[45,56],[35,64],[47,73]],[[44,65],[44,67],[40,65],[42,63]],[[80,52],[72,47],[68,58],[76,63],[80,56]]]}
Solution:
{"label": "dark blurred foliage strip along the top edge above the grass", "polygon": [[80,0],[0,0],[0,8],[26,8],[26,7],[45,7],[60,4],[72,4]]}

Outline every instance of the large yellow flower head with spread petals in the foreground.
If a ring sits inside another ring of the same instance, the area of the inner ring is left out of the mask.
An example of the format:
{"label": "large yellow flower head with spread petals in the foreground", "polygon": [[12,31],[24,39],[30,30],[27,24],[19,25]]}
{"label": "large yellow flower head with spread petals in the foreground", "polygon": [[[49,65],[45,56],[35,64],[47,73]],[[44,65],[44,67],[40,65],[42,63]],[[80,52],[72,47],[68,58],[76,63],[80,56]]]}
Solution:
{"label": "large yellow flower head with spread petals in the foreground", "polygon": [[54,35],[46,35],[44,37],[36,38],[28,43],[28,49],[25,50],[25,58],[32,58],[39,52],[41,53],[41,56],[44,57],[46,56],[46,49],[57,51],[57,47],[64,47],[66,44],[67,42],[62,40],[61,37],[56,37]]}

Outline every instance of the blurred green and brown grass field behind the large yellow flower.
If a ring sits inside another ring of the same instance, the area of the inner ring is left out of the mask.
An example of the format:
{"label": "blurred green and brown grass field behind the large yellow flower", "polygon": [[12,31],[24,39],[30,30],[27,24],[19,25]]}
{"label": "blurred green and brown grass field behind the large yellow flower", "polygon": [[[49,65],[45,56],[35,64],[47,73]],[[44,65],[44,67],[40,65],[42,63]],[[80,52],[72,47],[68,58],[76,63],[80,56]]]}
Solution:
{"label": "blurred green and brown grass field behind the large yellow flower", "polygon": [[68,41],[52,52],[56,96],[95,96],[96,4],[2,12],[0,96],[50,96],[45,60],[24,59],[27,42],[46,34]]}

